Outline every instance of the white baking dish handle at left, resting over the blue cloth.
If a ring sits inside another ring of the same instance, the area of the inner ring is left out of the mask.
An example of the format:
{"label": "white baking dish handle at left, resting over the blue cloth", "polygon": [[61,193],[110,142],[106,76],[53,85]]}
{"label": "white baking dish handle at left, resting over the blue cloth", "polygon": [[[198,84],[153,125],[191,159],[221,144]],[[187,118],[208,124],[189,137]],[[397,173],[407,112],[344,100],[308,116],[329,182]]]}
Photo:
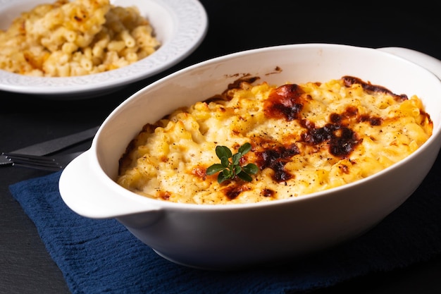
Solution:
{"label": "white baking dish handle at left, resting over the blue cloth", "polygon": [[[161,207],[120,187],[103,171],[94,169],[91,150],[80,154],[61,173],[58,188],[66,205],[92,219],[110,219],[142,213],[144,226],[156,221]],[[137,226],[139,226],[138,224]]]}

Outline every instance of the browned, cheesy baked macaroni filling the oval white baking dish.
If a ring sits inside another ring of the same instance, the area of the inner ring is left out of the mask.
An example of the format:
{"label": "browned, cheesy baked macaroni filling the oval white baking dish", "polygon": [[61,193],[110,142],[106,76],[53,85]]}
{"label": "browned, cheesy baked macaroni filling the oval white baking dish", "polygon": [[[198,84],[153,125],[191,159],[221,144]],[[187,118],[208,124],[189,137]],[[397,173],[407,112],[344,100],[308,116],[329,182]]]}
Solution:
{"label": "browned, cheesy baked macaroni filling the oval white baking dish", "polygon": [[[231,86],[231,85],[230,85]],[[417,96],[409,99],[354,77],[276,87],[237,87],[144,126],[120,159],[117,182],[159,200],[230,204],[282,200],[378,173],[407,157],[432,134]],[[216,146],[259,172],[251,182],[219,184],[206,169]]]}

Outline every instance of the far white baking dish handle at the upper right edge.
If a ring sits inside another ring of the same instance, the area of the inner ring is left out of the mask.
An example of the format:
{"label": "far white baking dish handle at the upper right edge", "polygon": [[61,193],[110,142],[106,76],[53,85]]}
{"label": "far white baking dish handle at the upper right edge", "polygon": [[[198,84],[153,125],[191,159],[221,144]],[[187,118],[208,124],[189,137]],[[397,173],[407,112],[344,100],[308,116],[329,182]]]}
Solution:
{"label": "far white baking dish handle at the upper right edge", "polygon": [[441,61],[439,59],[435,59],[435,57],[424,54],[420,51],[402,47],[383,47],[378,48],[378,50],[394,54],[402,57],[403,59],[416,63],[418,66],[426,68],[441,80]]}

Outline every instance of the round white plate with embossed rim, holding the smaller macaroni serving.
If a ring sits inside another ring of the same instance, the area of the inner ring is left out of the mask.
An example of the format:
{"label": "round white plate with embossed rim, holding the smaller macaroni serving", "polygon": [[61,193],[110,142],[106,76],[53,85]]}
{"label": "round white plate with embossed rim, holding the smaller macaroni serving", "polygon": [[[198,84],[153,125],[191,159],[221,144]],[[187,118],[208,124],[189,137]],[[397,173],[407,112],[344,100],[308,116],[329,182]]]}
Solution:
{"label": "round white plate with embossed rim, holding the smaller macaroni serving", "polygon": [[[37,4],[55,0],[0,0],[0,29]],[[197,0],[111,0],[115,6],[137,6],[154,27],[161,47],[130,66],[71,78],[39,78],[0,70],[0,90],[82,99],[115,90],[170,68],[196,49],[206,35],[208,18]]]}

